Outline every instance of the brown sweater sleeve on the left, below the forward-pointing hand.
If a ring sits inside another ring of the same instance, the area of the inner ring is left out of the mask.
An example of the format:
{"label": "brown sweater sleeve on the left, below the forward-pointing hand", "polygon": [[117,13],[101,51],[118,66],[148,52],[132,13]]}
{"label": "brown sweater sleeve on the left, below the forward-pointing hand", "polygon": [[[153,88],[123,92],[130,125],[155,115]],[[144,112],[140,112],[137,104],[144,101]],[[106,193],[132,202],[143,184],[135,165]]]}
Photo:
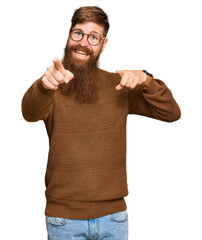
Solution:
{"label": "brown sweater sleeve on the left, below the forward-pointing hand", "polygon": [[45,89],[41,78],[35,81],[22,99],[22,114],[26,121],[46,120],[53,109],[53,90]]}

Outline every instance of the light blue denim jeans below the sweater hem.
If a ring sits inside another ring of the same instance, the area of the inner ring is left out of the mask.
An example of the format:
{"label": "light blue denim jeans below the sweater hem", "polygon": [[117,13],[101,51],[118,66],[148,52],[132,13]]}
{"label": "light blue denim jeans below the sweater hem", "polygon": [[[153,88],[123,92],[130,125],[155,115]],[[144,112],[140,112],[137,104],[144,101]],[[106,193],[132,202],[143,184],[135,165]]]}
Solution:
{"label": "light blue denim jeans below the sweater hem", "polygon": [[46,216],[48,240],[128,240],[127,210],[92,219]]}

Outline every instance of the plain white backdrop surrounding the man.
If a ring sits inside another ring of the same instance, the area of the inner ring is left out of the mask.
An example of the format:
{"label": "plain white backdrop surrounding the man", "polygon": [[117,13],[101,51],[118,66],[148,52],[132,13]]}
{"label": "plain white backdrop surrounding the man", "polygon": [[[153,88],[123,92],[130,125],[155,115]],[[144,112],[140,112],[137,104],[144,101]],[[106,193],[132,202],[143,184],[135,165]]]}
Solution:
{"label": "plain white backdrop surrounding the man", "polygon": [[[74,10],[99,5],[110,20],[100,68],[146,69],[163,80],[182,116],[128,115],[129,240],[202,239],[201,5],[197,0],[0,3],[0,238],[47,239],[48,138],[21,114],[25,91],[62,58]],[[121,239],[120,239],[121,240]]]}

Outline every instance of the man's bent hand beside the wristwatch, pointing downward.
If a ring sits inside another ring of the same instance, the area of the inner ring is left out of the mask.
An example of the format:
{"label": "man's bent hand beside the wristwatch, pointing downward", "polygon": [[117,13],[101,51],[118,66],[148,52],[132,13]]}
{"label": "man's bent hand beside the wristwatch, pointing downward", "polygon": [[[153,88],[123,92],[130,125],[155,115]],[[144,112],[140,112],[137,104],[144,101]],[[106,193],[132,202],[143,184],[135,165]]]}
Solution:
{"label": "man's bent hand beside the wristwatch, pointing downward", "polygon": [[121,77],[121,81],[116,86],[116,90],[121,90],[123,87],[133,89],[147,79],[147,74],[141,70],[117,70],[116,73]]}

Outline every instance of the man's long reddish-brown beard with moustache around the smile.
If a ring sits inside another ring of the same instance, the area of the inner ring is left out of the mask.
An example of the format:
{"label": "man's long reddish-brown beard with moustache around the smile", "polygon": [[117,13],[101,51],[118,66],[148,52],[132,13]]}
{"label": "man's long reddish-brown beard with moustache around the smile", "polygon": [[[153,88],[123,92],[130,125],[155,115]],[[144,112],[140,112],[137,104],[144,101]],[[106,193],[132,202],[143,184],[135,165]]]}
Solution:
{"label": "man's long reddish-brown beard with moustache around the smile", "polygon": [[[82,61],[72,57],[72,51],[79,50],[90,55],[87,61]],[[62,63],[64,68],[74,74],[74,78],[68,84],[61,84],[62,94],[75,94],[78,103],[92,102],[97,97],[97,73],[99,55],[94,56],[86,47],[74,45],[65,47]]]}

